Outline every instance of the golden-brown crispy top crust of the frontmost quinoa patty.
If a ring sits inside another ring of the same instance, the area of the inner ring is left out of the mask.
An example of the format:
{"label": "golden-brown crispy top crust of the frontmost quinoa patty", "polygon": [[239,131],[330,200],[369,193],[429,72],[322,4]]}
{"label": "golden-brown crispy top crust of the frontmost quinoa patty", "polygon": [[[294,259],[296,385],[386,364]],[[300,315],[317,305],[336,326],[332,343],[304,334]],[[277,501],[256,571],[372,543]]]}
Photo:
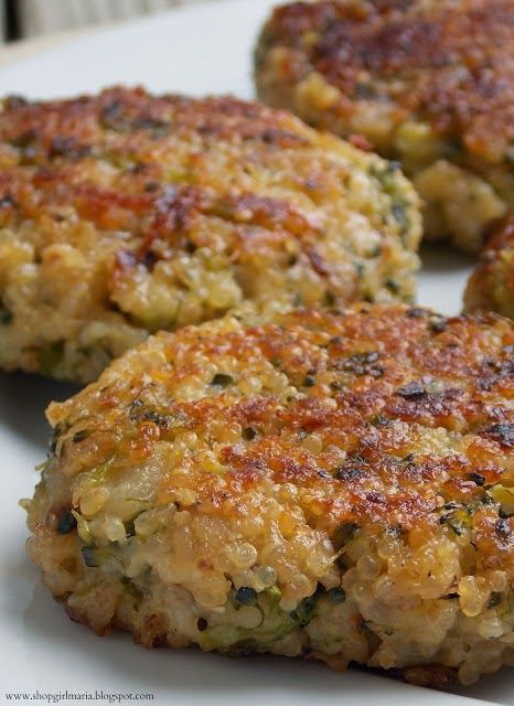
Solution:
{"label": "golden-brown crispy top crust of the frontmost quinoa patty", "polygon": [[[213,323],[161,333],[115,362],[98,383],[51,407],[52,424],[67,439],[60,466],[67,475],[92,450],[94,466],[115,456],[129,468],[185,430],[208,445],[214,439],[206,429],[222,416],[255,435],[221,450],[223,490],[194,456],[186,462],[180,483],[195,493],[197,512],[233,520],[239,495],[270,479],[312,491],[303,495],[303,511],[334,538],[351,522],[370,531],[399,523],[416,535],[431,533],[440,527],[445,503],[478,501],[476,561],[507,566],[511,520],[502,521],[508,530],[503,536],[497,507],[480,503],[483,485],[500,482],[512,467],[513,345],[512,323],[492,314],[445,320],[425,309],[379,306],[345,314],[303,311],[247,330],[227,332]],[[144,355],[160,363],[130,375]],[[131,365],[129,356],[138,363]],[[221,367],[232,360],[240,374],[248,361],[256,375],[271,363],[297,393],[287,403],[246,394],[233,373],[226,389],[207,383],[204,396],[179,402],[176,391],[202,374],[195,364],[202,356]],[[85,409],[87,439],[74,443]],[[435,428],[454,434],[460,451],[418,454],[418,439]],[[302,448],[299,441],[310,434],[325,448],[343,448],[346,462],[333,468],[330,451],[313,456]],[[473,473],[483,482],[476,484]],[[170,469],[160,503],[172,501],[175,483]]]}

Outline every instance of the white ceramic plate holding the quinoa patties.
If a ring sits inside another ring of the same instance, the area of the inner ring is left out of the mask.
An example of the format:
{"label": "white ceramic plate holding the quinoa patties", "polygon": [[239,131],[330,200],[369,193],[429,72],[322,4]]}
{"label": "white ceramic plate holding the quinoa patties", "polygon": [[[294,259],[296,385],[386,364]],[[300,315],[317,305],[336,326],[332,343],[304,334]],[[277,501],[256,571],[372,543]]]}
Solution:
{"label": "white ceramic plate holding the quinoa patties", "polygon": [[[158,92],[251,97],[251,47],[271,4],[271,0],[213,2],[88,33],[0,67],[0,95],[49,98],[121,82]],[[419,301],[445,313],[458,312],[471,265],[451,253],[426,253]],[[43,696],[61,695],[62,704],[77,703],[63,697],[66,689],[93,695],[150,693],[152,700],[139,703],[165,706],[471,706],[479,703],[475,699],[514,704],[514,672],[507,670],[447,695],[361,672],[339,674],[309,662],[144,651],[127,634],[99,639],[69,622],[24,556],[26,530],[17,501],[32,493],[36,478],[32,469],[45,457],[46,404],[72,392],[40,378],[0,375],[2,704],[12,703],[10,692],[32,697],[38,689]]]}

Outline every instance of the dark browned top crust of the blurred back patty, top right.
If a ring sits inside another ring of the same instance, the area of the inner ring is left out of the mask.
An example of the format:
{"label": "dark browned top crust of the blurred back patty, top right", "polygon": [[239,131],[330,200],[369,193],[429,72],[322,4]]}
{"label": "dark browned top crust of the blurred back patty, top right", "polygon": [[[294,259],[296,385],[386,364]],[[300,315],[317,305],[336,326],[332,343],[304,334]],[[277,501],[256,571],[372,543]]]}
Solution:
{"label": "dark browned top crust of the blurred back patty, top right", "polygon": [[[257,82],[270,105],[291,105],[310,73],[339,89],[321,127],[351,121],[358,104],[395,106],[465,150],[499,163],[514,137],[513,0],[295,2],[277,8],[257,50]],[[267,74],[270,51],[280,68]]]}

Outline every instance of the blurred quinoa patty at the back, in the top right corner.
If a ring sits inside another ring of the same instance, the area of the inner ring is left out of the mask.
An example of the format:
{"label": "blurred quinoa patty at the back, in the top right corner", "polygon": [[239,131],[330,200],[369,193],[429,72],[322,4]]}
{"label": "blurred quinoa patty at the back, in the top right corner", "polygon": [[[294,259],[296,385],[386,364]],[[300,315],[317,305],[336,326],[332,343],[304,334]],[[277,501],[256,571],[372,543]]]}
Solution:
{"label": "blurred quinoa patty at the back, in the top right corner", "polygon": [[514,1],[279,7],[256,50],[261,99],[398,159],[431,239],[478,252],[514,206]]}

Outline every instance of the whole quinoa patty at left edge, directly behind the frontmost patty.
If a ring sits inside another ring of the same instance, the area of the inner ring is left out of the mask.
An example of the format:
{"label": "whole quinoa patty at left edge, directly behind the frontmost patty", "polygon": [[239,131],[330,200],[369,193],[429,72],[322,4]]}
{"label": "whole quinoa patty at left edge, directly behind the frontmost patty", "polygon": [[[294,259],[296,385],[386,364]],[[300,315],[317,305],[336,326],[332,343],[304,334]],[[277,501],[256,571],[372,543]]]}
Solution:
{"label": "whole quinoa patty at left edge, directly behind the frontmost patty", "polygon": [[410,300],[397,165],[235,98],[0,101],[0,366],[95,379],[150,332]]}

